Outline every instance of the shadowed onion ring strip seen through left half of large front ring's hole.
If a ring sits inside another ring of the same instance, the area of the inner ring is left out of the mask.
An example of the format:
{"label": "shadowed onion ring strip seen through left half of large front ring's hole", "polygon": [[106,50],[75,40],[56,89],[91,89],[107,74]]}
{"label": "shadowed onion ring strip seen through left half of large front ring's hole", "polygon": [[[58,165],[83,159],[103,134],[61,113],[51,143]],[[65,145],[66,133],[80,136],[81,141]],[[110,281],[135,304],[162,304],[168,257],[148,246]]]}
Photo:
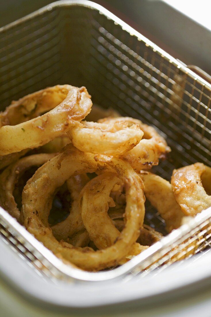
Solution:
{"label": "shadowed onion ring strip seen through left half of large front ring's hole", "polygon": [[85,173],[81,175],[76,175],[67,180],[67,187],[71,193],[72,201],[70,214],[64,221],[57,223],[51,227],[53,235],[58,241],[66,241],[68,237],[71,237],[78,231],[84,229],[84,224],[82,222],[80,213],[80,201],[78,197],[80,191],[89,180],[89,177]]}

